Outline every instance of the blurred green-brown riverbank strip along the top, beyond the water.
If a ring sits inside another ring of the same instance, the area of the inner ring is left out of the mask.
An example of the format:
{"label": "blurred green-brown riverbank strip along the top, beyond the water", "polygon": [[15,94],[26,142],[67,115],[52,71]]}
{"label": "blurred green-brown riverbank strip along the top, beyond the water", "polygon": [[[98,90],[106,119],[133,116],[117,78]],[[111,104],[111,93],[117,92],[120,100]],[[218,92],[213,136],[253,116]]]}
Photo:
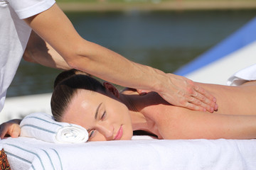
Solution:
{"label": "blurred green-brown riverbank strip along the top, beyond the water", "polygon": [[63,11],[184,11],[255,9],[256,1],[58,2]]}

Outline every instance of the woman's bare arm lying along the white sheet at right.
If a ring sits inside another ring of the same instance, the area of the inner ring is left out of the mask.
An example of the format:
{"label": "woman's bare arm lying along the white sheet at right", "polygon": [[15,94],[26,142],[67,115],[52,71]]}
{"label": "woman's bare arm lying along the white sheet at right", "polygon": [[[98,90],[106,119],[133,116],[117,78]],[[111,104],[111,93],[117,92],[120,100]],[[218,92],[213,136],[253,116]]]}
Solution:
{"label": "woman's bare arm lying along the white sheet at right", "polygon": [[256,138],[256,115],[222,115],[174,108],[157,120],[164,139]]}

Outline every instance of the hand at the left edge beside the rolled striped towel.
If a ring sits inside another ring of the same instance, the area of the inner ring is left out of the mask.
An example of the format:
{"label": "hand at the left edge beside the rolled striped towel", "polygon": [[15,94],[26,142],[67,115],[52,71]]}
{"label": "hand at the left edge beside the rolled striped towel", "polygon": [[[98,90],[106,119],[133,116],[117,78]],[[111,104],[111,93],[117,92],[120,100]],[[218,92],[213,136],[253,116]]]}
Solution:
{"label": "hand at the left edge beside the rolled striped towel", "polygon": [[6,123],[2,123],[0,125],[0,137],[1,139],[4,139],[4,137],[18,137],[21,134],[21,128],[19,124],[21,123],[21,120],[14,119],[9,120]]}

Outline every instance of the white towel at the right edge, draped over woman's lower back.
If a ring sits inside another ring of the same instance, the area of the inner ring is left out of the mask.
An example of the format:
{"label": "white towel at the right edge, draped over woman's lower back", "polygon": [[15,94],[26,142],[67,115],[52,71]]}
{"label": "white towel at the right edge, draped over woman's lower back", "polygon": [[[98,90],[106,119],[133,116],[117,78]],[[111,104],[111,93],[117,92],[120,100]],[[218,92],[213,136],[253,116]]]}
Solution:
{"label": "white towel at the right edge, draped over woman's lower back", "polygon": [[228,79],[227,84],[229,86],[239,86],[246,81],[252,80],[256,80],[256,64],[246,67],[245,69],[241,69],[233,74],[233,76]]}

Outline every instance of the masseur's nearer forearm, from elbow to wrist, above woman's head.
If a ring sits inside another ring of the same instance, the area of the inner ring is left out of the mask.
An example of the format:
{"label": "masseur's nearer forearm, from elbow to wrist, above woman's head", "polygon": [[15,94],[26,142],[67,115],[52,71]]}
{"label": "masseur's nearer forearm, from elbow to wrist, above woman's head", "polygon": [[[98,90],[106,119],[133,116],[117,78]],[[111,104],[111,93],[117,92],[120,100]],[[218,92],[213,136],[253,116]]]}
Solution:
{"label": "masseur's nearer forearm, from elbow to wrist, above woman's head", "polygon": [[158,69],[129,61],[93,42],[84,43],[86,49],[80,50],[78,59],[70,61],[75,69],[134,89],[161,91],[161,86],[167,81],[165,73]]}

